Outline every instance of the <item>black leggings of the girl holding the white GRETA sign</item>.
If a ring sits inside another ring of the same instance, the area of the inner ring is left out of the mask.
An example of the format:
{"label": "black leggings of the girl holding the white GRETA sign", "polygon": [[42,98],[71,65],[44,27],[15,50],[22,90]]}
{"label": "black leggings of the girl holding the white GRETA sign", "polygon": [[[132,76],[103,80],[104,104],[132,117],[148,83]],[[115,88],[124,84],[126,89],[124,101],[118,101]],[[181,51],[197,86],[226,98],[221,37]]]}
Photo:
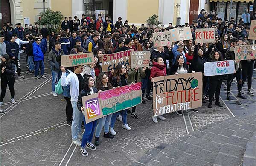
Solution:
{"label": "black leggings of the girl holding the white GRETA sign", "polygon": [[222,79],[210,79],[209,101],[212,102],[215,93],[216,103],[220,100]]}

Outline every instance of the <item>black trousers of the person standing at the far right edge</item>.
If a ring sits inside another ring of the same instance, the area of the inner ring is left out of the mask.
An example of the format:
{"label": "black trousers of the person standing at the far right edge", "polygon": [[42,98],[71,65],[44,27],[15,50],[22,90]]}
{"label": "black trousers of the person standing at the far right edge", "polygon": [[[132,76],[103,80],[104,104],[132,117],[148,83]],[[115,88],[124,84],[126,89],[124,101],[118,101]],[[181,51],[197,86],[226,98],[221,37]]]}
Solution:
{"label": "black trousers of the person standing at the far right edge", "polygon": [[243,70],[242,70],[242,87],[244,85],[244,82],[246,81],[246,78],[248,78],[248,89],[251,89],[252,87],[252,77],[253,77],[253,65],[254,62],[243,62]]}

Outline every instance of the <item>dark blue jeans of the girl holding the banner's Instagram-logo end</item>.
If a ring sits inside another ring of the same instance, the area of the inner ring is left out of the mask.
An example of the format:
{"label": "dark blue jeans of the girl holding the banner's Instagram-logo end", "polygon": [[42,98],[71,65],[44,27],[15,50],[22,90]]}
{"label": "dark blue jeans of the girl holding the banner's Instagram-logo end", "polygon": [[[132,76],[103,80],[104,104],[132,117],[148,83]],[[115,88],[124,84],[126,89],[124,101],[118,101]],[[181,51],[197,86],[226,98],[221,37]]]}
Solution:
{"label": "dark blue jeans of the girl holding the banner's Instagram-logo end", "polygon": [[[83,116],[84,118],[84,116]],[[81,147],[84,148],[86,143],[91,143],[92,139],[93,139],[93,133],[94,133],[94,129],[96,128],[98,120],[96,121],[92,121],[90,123],[85,123],[85,118],[84,118],[84,128],[85,128],[85,132],[82,138],[82,144]],[[73,122],[72,122],[73,124]]]}

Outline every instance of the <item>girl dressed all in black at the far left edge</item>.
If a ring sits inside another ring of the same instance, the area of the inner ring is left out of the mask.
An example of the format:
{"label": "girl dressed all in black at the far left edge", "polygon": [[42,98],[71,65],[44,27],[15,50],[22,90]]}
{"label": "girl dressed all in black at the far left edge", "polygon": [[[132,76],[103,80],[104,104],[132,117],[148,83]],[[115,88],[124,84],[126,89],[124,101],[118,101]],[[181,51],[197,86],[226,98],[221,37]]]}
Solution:
{"label": "girl dressed all in black at the far left edge", "polygon": [[[6,94],[6,88],[7,85],[9,87],[10,93],[11,93],[11,103],[14,104],[14,74],[15,74],[15,62],[12,61],[9,57],[9,55],[5,54],[1,56],[2,63],[0,65],[1,67],[1,100],[0,100],[0,106],[3,104],[3,98]],[[1,114],[4,114],[5,112],[1,110]]]}

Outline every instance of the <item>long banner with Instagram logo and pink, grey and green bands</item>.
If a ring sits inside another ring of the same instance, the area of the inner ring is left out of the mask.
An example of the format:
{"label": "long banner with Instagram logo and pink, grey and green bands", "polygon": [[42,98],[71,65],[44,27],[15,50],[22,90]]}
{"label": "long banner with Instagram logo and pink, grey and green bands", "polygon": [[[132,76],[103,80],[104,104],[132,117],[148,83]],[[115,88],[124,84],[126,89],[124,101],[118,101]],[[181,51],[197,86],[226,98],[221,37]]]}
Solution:
{"label": "long banner with Instagram logo and pink, grey and green bands", "polygon": [[141,82],[82,97],[86,124],[141,103]]}

